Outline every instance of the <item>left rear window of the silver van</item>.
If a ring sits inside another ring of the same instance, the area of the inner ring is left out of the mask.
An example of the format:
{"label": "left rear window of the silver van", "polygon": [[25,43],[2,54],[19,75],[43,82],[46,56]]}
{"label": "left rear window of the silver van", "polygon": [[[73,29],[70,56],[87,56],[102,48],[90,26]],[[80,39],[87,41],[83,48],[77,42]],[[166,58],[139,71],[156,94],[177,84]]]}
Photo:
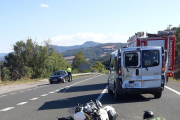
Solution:
{"label": "left rear window of the silver van", "polygon": [[138,54],[126,53],[125,54],[125,66],[138,66]]}

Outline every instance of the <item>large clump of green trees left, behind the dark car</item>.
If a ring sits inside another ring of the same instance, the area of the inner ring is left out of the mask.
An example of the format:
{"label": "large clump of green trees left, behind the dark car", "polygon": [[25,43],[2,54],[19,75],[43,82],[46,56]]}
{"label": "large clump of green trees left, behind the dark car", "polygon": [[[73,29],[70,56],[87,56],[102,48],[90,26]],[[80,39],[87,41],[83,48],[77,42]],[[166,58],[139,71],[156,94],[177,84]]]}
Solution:
{"label": "large clump of green trees left, behind the dark car", "polygon": [[8,54],[4,63],[11,73],[11,78],[44,78],[49,77],[54,71],[66,70],[70,64],[50,47],[49,43],[50,40],[47,40],[44,41],[44,46],[40,46],[32,39],[16,42],[13,46],[14,53]]}

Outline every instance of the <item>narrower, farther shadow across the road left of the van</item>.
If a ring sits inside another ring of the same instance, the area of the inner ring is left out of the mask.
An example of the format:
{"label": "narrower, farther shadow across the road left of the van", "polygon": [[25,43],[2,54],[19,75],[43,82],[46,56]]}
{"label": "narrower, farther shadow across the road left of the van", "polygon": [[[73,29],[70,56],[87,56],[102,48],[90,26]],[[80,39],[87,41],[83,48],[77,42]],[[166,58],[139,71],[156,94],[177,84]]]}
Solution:
{"label": "narrower, farther shadow across the road left of the van", "polygon": [[84,86],[73,86],[73,87],[62,89],[58,93],[70,93],[70,92],[103,90],[106,86],[107,86],[107,83],[91,84],[91,85],[84,85]]}

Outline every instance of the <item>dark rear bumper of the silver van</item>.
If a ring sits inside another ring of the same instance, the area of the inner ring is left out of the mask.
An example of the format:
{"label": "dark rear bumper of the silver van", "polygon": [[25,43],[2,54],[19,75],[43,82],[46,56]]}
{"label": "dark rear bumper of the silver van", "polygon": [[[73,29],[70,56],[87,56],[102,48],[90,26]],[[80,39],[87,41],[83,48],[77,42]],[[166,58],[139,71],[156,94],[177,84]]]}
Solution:
{"label": "dark rear bumper of the silver van", "polygon": [[163,87],[158,88],[122,88],[118,90],[119,94],[123,93],[153,93],[153,92],[162,92],[164,90]]}

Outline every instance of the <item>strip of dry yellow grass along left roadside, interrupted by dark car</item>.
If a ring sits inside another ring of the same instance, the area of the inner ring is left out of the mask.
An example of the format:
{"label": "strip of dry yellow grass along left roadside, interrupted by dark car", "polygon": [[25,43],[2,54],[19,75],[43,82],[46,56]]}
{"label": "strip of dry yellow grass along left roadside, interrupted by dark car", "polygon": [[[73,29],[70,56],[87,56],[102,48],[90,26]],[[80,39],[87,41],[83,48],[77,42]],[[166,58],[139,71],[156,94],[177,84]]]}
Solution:
{"label": "strip of dry yellow grass along left roadside, interrupted by dark car", "polygon": [[[80,77],[85,77],[85,76],[90,76],[92,74],[89,75],[79,75],[79,76],[73,76],[72,78],[80,78]],[[93,74],[93,75],[98,75],[98,74]],[[39,82],[39,80],[43,80],[43,79],[49,79],[49,78],[37,78],[37,79],[19,79],[16,81],[0,81],[0,86],[4,86],[4,85],[15,85],[15,84],[26,84],[26,83],[36,83]]]}

